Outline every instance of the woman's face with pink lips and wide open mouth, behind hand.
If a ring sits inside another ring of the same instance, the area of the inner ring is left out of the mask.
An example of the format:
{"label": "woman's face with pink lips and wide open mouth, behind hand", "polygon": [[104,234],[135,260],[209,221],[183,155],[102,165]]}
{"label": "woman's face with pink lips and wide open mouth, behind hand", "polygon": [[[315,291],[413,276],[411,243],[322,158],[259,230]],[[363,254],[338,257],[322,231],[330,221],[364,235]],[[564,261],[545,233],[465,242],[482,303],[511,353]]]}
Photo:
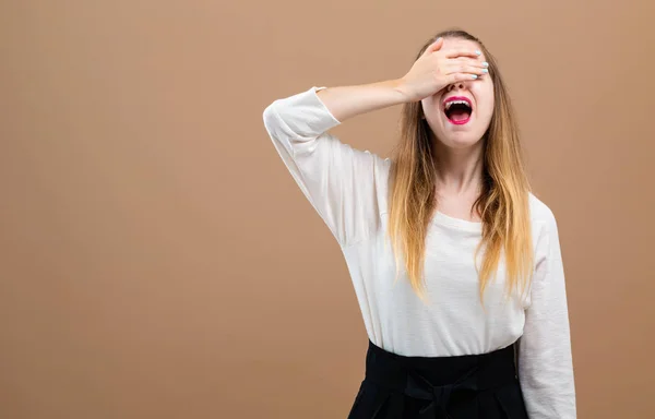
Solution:
{"label": "woman's face with pink lips and wide open mouth, behind hand", "polygon": [[[479,49],[475,41],[445,38],[442,50]],[[485,61],[484,53],[478,58]],[[449,101],[455,100],[449,105]],[[461,101],[469,101],[471,109]],[[457,104],[457,101],[460,104]],[[424,115],[437,139],[453,148],[469,147],[480,141],[493,115],[493,82],[489,74],[457,82],[421,100]]]}

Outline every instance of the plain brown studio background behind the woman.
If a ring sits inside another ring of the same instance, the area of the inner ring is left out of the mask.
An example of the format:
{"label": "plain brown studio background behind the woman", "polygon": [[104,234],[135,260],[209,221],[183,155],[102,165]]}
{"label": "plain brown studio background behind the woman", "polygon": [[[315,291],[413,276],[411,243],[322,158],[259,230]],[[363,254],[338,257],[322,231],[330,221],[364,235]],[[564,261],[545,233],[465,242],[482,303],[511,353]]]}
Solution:
{"label": "plain brown studio background behind the woman", "polygon": [[[262,123],[402,76],[439,29],[498,57],[568,276],[581,418],[655,417],[651,0],[3,1],[0,417],[345,418],[366,334]],[[388,155],[398,108],[337,128]]]}

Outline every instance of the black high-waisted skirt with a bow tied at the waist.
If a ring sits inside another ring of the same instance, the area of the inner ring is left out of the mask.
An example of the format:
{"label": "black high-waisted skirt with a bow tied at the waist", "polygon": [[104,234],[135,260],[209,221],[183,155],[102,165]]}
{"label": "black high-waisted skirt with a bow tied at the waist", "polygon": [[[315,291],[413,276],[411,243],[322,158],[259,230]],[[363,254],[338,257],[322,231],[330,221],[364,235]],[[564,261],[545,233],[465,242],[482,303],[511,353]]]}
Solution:
{"label": "black high-waisted skirt with a bow tied at the waist", "polygon": [[369,342],[348,419],[527,419],[514,346],[484,355],[403,357]]}

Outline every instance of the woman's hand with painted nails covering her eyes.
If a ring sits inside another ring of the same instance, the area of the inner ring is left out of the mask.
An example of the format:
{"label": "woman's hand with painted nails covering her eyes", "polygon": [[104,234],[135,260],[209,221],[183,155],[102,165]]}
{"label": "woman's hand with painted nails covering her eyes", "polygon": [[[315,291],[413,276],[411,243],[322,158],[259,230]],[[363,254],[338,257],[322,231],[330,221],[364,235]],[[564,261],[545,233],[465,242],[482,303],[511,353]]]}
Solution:
{"label": "woman's hand with painted nails covering her eyes", "polygon": [[449,84],[471,81],[486,74],[488,64],[480,52],[468,49],[441,50],[443,38],[437,39],[401,79],[400,89],[408,101],[421,100]]}

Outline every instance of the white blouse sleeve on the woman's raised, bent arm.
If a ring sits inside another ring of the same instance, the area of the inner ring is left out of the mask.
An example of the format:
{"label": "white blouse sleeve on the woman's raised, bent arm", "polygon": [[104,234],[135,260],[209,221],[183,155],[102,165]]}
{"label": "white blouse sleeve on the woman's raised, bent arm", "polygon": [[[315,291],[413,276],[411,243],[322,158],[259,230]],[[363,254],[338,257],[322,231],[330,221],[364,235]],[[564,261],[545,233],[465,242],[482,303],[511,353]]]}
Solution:
{"label": "white blouse sleeve on the woman's raised, bent arm", "polygon": [[273,101],[263,119],[294,180],[345,247],[365,239],[378,224],[378,183],[385,181],[384,161],[327,133],[341,122],[317,95],[322,88]]}

